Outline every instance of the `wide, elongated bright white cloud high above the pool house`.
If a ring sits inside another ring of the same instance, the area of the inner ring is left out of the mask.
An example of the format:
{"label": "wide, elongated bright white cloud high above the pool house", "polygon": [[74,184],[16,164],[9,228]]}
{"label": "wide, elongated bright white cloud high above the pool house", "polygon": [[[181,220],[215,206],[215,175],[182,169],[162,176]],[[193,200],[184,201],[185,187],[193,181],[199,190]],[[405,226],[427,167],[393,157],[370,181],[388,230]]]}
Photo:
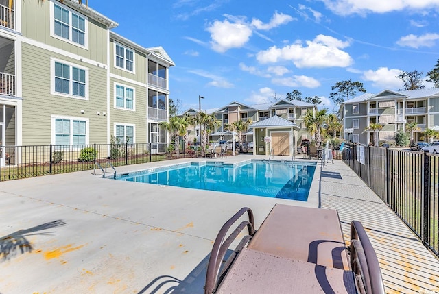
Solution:
{"label": "wide, elongated bright white cloud high above the pool house", "polygon": [[305,46],[300,42],[282,48],[273,46],[265,51],[259,51],[256,58],[262,64],[291,60],[298,68],[346,67],[353,63],[353,59],[340,48],[348,45],[349,42],[343,42],[331,36],[318,35],[313,41],[307,41]]}

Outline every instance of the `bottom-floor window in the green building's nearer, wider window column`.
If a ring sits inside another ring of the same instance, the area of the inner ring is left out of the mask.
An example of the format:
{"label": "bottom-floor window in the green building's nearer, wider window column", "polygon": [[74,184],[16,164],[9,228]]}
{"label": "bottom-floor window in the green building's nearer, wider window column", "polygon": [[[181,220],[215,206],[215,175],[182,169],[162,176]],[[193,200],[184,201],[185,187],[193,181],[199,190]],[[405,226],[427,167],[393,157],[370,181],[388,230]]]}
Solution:
{"label": "bottom-floor window in the green building's nearer, wider window column", "polygon": [[52,143],[54,145],[88,144],[88,119],[52,117]]}

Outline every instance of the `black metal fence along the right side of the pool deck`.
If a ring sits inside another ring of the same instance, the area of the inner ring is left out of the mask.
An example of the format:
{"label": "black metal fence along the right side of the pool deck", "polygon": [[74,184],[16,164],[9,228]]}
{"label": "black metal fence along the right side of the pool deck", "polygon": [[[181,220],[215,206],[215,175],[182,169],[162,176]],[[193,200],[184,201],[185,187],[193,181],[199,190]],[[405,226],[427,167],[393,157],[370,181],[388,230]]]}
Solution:
{"label": "black metal fence along the right side of the pool deck", "polygon": [[343,160],[439,256],[439,155],[346,146]]}

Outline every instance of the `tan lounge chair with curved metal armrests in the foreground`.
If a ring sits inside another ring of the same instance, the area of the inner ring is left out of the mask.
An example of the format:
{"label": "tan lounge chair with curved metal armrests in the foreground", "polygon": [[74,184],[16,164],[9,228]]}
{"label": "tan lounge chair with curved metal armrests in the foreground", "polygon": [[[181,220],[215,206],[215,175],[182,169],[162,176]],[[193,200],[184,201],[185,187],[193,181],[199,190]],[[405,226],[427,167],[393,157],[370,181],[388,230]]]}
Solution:
{"label": "tan lounge chair with curved metal armrests in the foreground", "polygon": [[[248,221],[226,238],[246,212]],[[223,263],[228,247],[246,228],[248,234]],[[352,222],[351,247],[346,247],[337,210],[276,204],[257,232],[250,208],[223,225],[209,258],[204,293],[385,292],[361,223]]]}

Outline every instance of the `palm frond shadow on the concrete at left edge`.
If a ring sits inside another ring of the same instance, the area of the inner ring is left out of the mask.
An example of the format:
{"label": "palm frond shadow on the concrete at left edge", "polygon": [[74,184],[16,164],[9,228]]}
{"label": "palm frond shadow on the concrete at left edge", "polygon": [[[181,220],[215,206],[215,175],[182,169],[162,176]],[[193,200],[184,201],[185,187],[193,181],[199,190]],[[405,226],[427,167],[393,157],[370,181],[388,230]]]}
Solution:
{"label": "palm frond shadow on the concrete at left edge", "polygon": [[33,235],[48,235],[52,232],[36,233],[38,231],[47,230],[50,228],[66,225],[64,221],[51,221],[49,223],[43,223],[42,225],[36,225],[35,227],[19,230],[7,236],[0,238],[0,261],[10,260],[10,258],[17,254],[24,254],[26,252],[32,252],[32,245],[27,240],[27,236]]}

